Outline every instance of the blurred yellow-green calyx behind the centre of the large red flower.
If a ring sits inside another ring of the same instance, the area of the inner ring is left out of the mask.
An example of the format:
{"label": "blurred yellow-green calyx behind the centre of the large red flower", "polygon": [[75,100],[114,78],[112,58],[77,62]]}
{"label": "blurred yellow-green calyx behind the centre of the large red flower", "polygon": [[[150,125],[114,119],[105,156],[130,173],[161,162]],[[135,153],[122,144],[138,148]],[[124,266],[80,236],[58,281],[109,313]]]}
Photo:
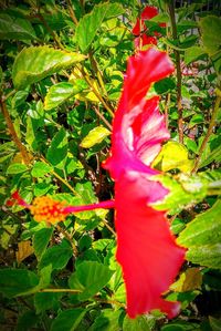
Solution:
{"label": "blurred yellow-green calyx behind the centre of the large red flower", "polygon": [[207,196],[208,180],[199,176],[181,174],[176,180],[171,176],[157,175],[152,179],[159,180],[169,190],[165,199],[152,204],[152,207],[169,210],[171,215],[196,205]]}

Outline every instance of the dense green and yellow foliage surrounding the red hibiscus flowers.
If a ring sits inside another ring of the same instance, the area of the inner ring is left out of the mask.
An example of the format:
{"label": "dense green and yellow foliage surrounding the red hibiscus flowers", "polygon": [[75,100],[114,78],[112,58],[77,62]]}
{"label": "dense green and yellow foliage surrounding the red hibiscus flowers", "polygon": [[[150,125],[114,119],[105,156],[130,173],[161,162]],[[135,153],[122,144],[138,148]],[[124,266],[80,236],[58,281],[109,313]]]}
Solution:
{"label": "dense green and yellow foliage surrounding the red hibiscus flowers", "polygon": [[[160,95],[171,136],[151,164],[160,172],[151,180],[168,189],[152,208],[167,213],[177,242],[187,249],[187,262],[165,293],[180,301],[180,316],[168,320],[157,310],[126,316],[115,213],[81,211],[49,225],[11,206],[15,190],[30,205],[45,195],[73,206],[114,198],[102,163],[109,155],[126,62],[138,51],[131,30],[144,1],[17,2],[2,1],[0,13],[0,329],[220,330],[218,3],[208,11],[207,1],[175,1],[175,33],[171,1],[150,0],[159,14],[143,31],[156,37],[175,65],[175,74],[147,95]],[[159,27],[165,22],[167,29]]]}

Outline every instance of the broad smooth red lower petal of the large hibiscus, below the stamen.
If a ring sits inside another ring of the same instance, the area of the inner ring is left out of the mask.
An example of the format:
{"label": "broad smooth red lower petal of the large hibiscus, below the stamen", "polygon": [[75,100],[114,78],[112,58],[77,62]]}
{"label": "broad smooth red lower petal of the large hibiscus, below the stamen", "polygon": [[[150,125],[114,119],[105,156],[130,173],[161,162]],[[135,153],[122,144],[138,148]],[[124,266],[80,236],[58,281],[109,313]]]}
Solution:
{"label": "broad smooth red lower petal of the large hibiscus, below the stamen", "polygon": [[128,174],[115,186],[117,260],[122,265],[130,318],[160,309],[169,318],[179,311],[178,302],[161,294],[175,280],[185,250],[169,231],[162,211],[147,206],[149,199],[164,196],[164,188],[144,176]]}

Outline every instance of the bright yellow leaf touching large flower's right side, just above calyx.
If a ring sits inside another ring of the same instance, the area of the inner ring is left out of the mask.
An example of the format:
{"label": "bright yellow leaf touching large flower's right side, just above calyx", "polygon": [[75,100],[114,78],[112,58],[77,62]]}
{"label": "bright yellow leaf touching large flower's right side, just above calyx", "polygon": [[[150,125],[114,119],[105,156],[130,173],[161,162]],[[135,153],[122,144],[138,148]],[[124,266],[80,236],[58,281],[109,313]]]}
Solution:
{"label": "bright yellow leaf touching large flower's right side, just above calyx", "polygon": [[152,166],[162,172],[179,169],[182,173],[190,173],[193,161],[188,158],[188,149],[182,144],[170,141],[162,146]]}

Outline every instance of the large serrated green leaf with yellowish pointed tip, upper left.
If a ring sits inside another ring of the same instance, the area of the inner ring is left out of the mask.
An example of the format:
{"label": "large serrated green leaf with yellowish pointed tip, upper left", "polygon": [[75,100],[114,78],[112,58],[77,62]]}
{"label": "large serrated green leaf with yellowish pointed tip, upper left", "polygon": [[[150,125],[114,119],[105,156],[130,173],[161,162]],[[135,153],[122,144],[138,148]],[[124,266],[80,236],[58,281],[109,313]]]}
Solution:
{"label": "large serrated green leaf with yellowish pointed tip, upper left", "polygon": [[48,45],[23,49],[12,66],[12,80],[15,89],[24,90],[32,83],[67,69],[83,61],[84,55],[52,49]]}

